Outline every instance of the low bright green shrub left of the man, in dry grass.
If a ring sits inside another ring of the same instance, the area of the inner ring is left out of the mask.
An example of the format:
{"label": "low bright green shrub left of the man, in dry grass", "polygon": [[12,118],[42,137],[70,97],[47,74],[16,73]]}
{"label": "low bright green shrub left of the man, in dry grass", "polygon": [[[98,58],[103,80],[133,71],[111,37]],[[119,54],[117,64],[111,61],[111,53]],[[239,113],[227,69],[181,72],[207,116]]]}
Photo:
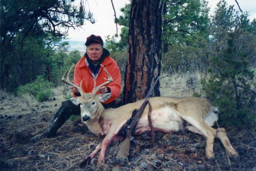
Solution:
{"label": "low bright green shrub left of the man, in dry grass", "polygon": [[52,86],[53,83],[44,80],[43,76],[38,76],[33,83],[19,86],[17,91],[19,96],[28,93],[33,95],[39,102],[43,102],[51,96]]}

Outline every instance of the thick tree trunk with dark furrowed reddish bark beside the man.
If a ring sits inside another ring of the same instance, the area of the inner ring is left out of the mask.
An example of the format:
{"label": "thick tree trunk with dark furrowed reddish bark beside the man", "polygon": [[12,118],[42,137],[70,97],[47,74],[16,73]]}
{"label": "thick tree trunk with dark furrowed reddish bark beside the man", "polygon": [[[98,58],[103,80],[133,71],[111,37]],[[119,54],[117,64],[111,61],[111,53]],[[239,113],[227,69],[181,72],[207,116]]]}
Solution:
{"label": "thick tree trunk with dark furrowed reddish bark beside the man", "polygon": [[[162,7],[162,0],[131,3],[123,104],[144,99],[160,76]],[[151,96],[160,96],[159,86],[158,82]]]}

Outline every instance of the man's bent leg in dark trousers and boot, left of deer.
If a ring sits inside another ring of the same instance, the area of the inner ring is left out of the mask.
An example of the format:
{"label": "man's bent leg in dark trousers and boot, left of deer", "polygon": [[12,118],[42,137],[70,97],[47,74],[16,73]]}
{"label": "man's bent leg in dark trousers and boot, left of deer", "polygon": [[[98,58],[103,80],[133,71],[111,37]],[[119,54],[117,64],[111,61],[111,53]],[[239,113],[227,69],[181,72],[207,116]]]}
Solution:
{"label": "man's bent leg in dark trousers and boot, left of deer", "polygon": [[80,105],[75,105],[70,100],[62,102],[62,106],[55,113],[53,121],[47,131],[32,137],[30,142],[35,143],[44,137],[49,138],[55,135],[58,129],[70,118],[71,115],[80,115],[80,113]]}

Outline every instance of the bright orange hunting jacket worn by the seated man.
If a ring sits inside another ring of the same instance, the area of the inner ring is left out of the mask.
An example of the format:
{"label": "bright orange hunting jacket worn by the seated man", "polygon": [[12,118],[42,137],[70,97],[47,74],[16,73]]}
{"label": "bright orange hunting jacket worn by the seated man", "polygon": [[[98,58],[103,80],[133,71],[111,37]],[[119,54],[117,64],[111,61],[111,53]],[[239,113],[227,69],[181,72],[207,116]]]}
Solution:
{"label": "bright orange hunting jacket worn by the seated man", "polygon": [[[108,104],[115,100],[120,95],[121,92],[121,75],[120,70],[117,63],[110,56],[106,57],[101,63],[109,72],[111,77],[113,78],[113,82],[105,85],[105,87],[109,87],[111,90],[111,97],[103,104]],[[80,61],[77,62],[74,72],[74,82],[80,86],[80,82],[82,79],[82,89],[85,93],[91,93],[94,89],[94,77],[96,78],[96,86],[101,85],[106,82],[104,78],[108,78],[108,75],[102,68],[99,69],[99,72],[96,76],[92,73],[92,71],[88,68],[86,64],[86,57],[83,56]],[[96,94],[100,94],[97,92]],[[76,97],[75,94],[73,96]]]}

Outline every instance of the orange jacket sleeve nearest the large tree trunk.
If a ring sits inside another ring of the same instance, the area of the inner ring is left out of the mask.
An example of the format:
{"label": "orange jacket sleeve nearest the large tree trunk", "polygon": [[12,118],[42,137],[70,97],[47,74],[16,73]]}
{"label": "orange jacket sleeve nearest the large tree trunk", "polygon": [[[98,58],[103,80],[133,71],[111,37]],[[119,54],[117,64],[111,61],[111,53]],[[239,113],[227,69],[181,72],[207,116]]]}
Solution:
{"label": "orange jacket sleeve nearest the large tree trunk", "polygon": [[115,61],[111,63],[109,68],[107,69],[111,77],[113,78],[113,82],[109,83],[107,87],[111,90],[111,97],[117,98],[121,92],[121,74],[119,67]]}

